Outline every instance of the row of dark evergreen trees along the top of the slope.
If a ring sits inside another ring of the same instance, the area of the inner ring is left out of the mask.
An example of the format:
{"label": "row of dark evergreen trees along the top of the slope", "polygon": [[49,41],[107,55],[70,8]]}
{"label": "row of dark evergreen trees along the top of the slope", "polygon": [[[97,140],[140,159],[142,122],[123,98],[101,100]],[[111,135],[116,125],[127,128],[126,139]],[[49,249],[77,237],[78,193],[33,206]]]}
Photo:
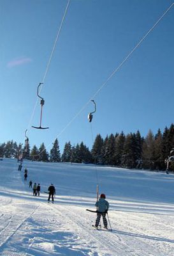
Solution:
{"label": "row of dark evergreen trees along the top of the slope", "polygon": [[[110,134],[102,138],[98,134],[92,145],[92,149],[83,143],[71,145],[68,141],[64,145],[62,155],[59,150],[59,141],[55,139],[53,147],[48,153],[44,143],[40,148],[29,143],[22,147],[13,140],[0,144],[0,157],[22,156],[34,161],[68,162],[68,163],[93,163],[119,166],[122,168],[138,168],[150,170],[166,170],[166,159],[171,156],[174,148],[174,125],[160,129],[154,135],[149,131],[143,138],[140,131],[124,134],[124,132]],[[174,153],[173,153],[174,155]],[[174,170],[174,164],[170,163],[170,170]]]}

